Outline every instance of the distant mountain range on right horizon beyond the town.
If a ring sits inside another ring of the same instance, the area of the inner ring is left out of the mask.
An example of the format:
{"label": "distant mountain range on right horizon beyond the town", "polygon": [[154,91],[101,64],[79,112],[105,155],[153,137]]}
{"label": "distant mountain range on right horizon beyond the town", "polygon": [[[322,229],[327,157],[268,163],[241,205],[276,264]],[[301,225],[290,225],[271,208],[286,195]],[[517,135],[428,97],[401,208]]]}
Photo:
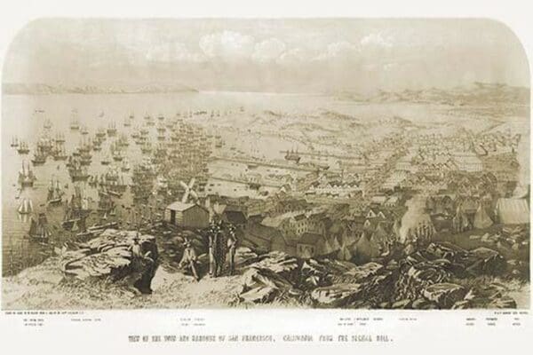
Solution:
{"label": "distant mountain range on right horizon beyond the town", "polygon": [[412,102],[450,106],[529,105],[529,88],[508,86],[502,83],[473,83],[451,89],[378,91],[367,97],[345,92],[340,94],[339,98],[374,103]]}

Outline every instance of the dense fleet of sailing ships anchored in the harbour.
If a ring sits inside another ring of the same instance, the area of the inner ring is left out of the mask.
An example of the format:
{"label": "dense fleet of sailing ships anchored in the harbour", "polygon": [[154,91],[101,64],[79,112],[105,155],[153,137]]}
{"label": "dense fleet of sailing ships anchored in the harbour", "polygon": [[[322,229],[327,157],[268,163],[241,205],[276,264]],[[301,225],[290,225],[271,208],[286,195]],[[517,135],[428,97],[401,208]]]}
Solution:
{"label": "dense fleet of sailing ships anchored in the harbour", "polygon": [[[19,201],[17,214],[22,223],[28,223],[28,239],[46,244],[54,233],[83,236],[110,225],[152,220],[159,213],[155,203],[148,214],[142,214],[144,219],[139,219],[140,206],[146,207],[154,196],[156,201],[175,198],[172,196],[181,187],[169,181],[189,181],[194,177],[195,189],[202,193],[207,184],[208,157],[216,139],[182,118],[191,115],[188,112],[166,118],[163,114],[145,114],[137,122],[135,115],[129,114],[123,120],[123,130],[107,120],[107,127],[100,126],[91,133],[73,110],[67,135],[61,131],[52,133],[52,121],[47,119],[31,149],[26,140],[13,137],[11,146],[22,157],[15,196]],[[103,113],[99,119],[102,117]],[[78,139],[78,143],[68,149],[73,139]],[[139,154],[131,154],[132,146],[138,147]],[[43,181],[49,179],[46,202],[35,206],[27,196],[30,193],[25,192],[43,188],[36,185],[36,170],[47,164],[56,164],[57,174],[41,177]],[[61,170],[67,174],[61,174]],[[61,176],[68,176],[70,181],[61,181]],[[96,193],[89,193],[90,190]],[[133,203],[124,206],[121,199],[128,191]],[[56,222],[49,214],[60,216],[61,209],[63,217],[54,226]]]}

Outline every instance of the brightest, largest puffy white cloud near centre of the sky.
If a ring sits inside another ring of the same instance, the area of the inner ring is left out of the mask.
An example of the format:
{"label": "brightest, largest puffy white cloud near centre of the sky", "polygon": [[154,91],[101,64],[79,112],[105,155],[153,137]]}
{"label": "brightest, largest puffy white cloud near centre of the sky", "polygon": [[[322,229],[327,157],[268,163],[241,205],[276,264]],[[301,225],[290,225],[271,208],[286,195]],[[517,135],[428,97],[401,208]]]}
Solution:
{"label": "brightest, largest puffy white cloud near centre of the sky", "polygon": [[217,32],[200,38],[200,48],[209,58],[243,59],[254,51],[252,36],[234,31]]}

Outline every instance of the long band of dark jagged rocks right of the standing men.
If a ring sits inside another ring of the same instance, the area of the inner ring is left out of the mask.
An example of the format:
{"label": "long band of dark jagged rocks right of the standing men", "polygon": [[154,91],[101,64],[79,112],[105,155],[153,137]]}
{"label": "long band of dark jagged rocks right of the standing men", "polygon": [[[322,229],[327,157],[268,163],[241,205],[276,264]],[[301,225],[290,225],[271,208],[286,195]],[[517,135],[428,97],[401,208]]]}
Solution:
{"label": "long band of dark jagged rocks right of the standing men", "polygon": [[[398,260],[356,265],[331,259],[300,260],[275,251],[257,255],[250,248],[237,250],[243,272],[240,299],[271,303],[281,296],[297,296],[316,307],[449,309],[512,308],[506,291],[488,294],[486,280],[505,271],[497,251],[471,251],[449,243],[431,243]],[[385,264],[386,263],[386,264]],[[471,285],[466,280],[476,280]],[[465,281],[460,281],[465,280]],[[481,286],[480,286],[481,285]]]}

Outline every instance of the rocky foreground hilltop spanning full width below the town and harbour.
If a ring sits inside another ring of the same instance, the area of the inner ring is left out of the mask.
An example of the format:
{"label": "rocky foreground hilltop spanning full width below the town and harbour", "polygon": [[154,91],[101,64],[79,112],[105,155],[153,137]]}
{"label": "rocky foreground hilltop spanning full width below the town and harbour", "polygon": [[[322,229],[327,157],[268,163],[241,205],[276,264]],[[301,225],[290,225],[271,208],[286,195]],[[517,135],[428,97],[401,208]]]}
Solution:
{"label": "rocky foreground hilltop spanning full width below the town and harbour", "polygon": [[[153,241],[153,237],[146,238]],[[4,277],[3,309],[529,307],[529,264],[521,267],[491,248],[465,250],[435,241],[407,256],[398,253],[357,265],[329,258],[299,259],[280,251],[260,254],[241,247],[235,255],[233,276],[205,275],[209,262],[205,254],[200,255],[197,268],[203,278],[196,282],[170,263],[160,247],[159,252],[154,250],[158,268],[152,273],[152,293],[143,295],[127,276],[110,276],[114,266],[112,262],[109,266],[109,260],[120,260],[121,267],[132,260],[123,239],[115,247],[108,237],[89,243],[106,247],[87,256],[87,263],[53,256]],[[66,254],[79,256],[86,250],[85,246]],[[79,266],[77,276],[65,273],[65,264]]]}

